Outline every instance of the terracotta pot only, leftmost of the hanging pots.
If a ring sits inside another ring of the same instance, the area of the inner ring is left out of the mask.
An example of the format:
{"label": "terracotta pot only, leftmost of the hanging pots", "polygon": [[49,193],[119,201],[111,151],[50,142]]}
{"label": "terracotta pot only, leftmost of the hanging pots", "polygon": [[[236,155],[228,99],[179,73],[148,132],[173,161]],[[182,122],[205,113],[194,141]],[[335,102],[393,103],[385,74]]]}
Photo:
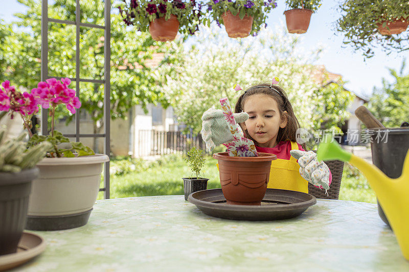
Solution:
{"label": "terracotta pot only, leftmost of the hanging pots", "polygon": [[156,18],[149,23],[149,33],[155,41],[173,41],[179,30],[179,21],[176,15],[170,15],[169,20],[165,16]]}

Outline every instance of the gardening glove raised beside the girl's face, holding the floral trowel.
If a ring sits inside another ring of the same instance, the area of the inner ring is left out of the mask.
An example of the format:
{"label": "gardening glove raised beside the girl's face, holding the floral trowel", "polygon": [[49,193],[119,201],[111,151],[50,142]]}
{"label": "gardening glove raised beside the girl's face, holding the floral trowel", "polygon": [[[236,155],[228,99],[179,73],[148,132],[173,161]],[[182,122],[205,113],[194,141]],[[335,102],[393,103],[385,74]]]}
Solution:
{"label": "gardening glove raised beside the girl's face, holding the floral trowel", "polygon": [[[248,119],[248,114],[245,112],[234,113],[233,116],[237,123]],[[210,108],[203,113],[201,119],[202,128],[200,133],[209,152],[212,152],[216,145],[233,140],[232,133],[221,110]],[[240,126],[238,127],[240,129]]]}

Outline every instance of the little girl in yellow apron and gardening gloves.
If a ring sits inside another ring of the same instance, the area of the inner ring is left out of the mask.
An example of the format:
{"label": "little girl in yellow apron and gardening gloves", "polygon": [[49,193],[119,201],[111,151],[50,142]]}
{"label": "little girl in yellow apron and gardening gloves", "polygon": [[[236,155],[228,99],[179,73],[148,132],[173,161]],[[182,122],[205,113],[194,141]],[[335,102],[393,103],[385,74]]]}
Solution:
{"label": "little girl in yellow apron and gardening gloves", "polygon": [[[282,88],[273,84],[247,88],[240,95],[235,112],[236,122],[244,136],[254,141],[257,152],[277,155],[271,163],[267,188],[308,192],[310,182],[329,189],[332,176],[328,166],[296,142],[300,124]],[[209,150],[231,140],[221,111],[209,109],[202,120],[201,133]]]}

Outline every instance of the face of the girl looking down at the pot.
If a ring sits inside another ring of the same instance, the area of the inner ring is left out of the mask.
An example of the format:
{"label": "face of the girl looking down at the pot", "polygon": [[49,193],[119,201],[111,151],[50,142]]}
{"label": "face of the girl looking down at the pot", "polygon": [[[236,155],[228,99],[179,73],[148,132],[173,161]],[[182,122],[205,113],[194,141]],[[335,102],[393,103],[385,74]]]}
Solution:
{"label": "face of the girl looking down at the pot", "polygon": [[266,94],[253,94],[244,102],[243,110],[248,113],[248,119],[241,123],[242,128],[247,129],[259,146],[276,146],[278,131],[287,126],[287,117],[285,114],[280,116],[274,98]]}

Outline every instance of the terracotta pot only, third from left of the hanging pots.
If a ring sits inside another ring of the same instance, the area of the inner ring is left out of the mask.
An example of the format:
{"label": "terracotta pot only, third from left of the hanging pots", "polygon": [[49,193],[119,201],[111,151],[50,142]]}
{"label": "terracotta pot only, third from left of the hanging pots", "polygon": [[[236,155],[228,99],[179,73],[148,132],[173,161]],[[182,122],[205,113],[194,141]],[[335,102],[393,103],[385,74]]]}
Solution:
{"label": "terracotta pot only, third from left of the hanging pots", "polygon": [[312,10],[310,9],[292,9],[284,11],[285,21],[289,33],[306,33],[310,26]]}

